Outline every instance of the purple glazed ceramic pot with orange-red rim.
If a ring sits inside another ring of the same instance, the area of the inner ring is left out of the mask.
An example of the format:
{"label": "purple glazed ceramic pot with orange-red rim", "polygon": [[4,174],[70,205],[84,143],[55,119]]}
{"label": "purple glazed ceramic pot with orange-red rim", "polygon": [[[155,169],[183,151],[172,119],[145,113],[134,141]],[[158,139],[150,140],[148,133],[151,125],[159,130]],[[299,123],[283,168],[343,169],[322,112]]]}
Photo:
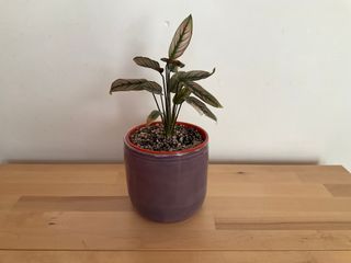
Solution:
{"label": "purple glazed ceramic pot with orange-red rim", "polygon": [[131,129],[124,139],[124,161],[132,204],[144,217],[173,222],[191,217],[206,195],[208,135],[193,124],[204,141],[181,151],[151,151],[137,147]]}

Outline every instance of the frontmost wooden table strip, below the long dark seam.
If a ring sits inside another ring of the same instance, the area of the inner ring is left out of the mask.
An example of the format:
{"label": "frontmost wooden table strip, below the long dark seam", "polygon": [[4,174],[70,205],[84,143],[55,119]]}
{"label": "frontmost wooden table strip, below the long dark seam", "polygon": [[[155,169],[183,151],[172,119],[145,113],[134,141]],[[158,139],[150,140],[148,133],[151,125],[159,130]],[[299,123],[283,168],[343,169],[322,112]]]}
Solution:
{"label": "frontmost wooden table strip, below the long dark seam", "polygon": [[0,251],[0,262],[350,263],[350,251]]}

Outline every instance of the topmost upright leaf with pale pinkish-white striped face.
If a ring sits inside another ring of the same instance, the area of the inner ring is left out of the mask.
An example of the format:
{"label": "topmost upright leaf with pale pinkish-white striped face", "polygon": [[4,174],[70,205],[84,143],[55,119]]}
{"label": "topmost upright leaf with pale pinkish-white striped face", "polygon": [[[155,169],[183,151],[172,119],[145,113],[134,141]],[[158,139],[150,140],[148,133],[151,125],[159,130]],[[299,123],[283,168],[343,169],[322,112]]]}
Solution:
{"label": "topmost upright leaf with pale pinkish-white striped face", "polygon": [[168,50],[168,56],[170,59],[179,58],[185,52],[191,36],[193,34],[193,19],[191,14],[184,19],[184,21],[179,25],[171,42]]}

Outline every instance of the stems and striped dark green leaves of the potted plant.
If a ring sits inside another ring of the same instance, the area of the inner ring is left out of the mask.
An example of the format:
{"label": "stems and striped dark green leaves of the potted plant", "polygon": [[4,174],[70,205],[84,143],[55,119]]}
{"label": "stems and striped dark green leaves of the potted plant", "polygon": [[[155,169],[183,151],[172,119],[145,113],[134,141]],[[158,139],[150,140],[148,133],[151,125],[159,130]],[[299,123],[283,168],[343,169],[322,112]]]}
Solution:
{"label": "stems and striped dark green leaves of the potted plant", "polygon": [[179,112],[184,102],[214,121],[217,121],[217,117],[206,104],[213,107],[222,107],[214,95],[195,82],[211,77],[215,69],[212,72],[204,70],[178,71],[179,68],[185,66],[178,58],[183,55],[189,46],[192,33],[193,19],[189,15],[176,31],[168,50],[168,58],[161,58],[161,61],[166,62],[163,68],[158,61],[148,57],[138,56],[133,59],[140,67],[158,71],[162,79],[162,85],[146,79],[117,79],[111,85],[110,94],[116,91],[145,90],[150,92],[157,110],[148,115],[146,124],[149,125],[161,117],[166,136],[173,134]]}

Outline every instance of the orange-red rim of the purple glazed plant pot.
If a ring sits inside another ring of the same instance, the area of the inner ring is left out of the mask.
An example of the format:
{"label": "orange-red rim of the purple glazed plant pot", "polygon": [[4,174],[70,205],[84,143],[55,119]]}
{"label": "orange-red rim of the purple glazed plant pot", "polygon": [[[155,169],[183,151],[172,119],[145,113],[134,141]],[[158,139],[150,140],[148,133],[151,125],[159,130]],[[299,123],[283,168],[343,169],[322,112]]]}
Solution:
{"label": "orange-red rim of the purple glazed plant pot", "polygon": [[[150,125],[160,124],[160,123],[161,122],[154,122]],[[124,137],[124,142],[125,142],[126,146],[128,146],[129,148],[133,148],[134,150],[137,150],[137,151],[143,152],[143,153],[154,155],[154,156],[180,156],[180,155],[191,153],[191,152],[195,152],[195,151],[204,148],[208,144],[208,134],[202,127],[200,127],[197,125],[194,125],[194,124],[191,124],[191,123],[184,123],[184,122],[177,122],[177,124],[181,124],[181,125],[184,125],[184,126],[188,126],[188,127],[193,127],[193,128],[197,129],[197,132],[203,137],[204,141],[201,142],[200,145],[195,146],[195,147],[183,149],[183,150],[179,150],[179,151],[154,151],[154,150],[143,149],[143,148],[136,146],[135,144],[133,144],[132,140],[131,140],[131,135],[136,129],[139,129],[139,128],[146,126],[146,124],[140,124],[140,125],[134,126],[133,128],[131,128],[128,130],[128,133]]]}

